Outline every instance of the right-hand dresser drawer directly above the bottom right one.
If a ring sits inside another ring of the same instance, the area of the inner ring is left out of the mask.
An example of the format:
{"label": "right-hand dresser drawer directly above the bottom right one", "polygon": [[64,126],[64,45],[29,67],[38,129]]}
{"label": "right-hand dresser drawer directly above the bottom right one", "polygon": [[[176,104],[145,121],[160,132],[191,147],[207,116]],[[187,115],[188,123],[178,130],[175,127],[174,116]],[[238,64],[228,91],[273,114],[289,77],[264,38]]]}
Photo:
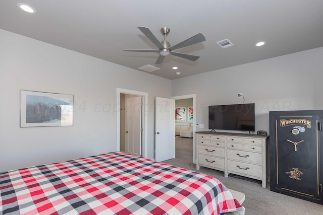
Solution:
{"label": "right-hand dresser drawer directly above the bottom right one", "polygon": [[239,150],[227,149],[227,158],[236,161],[250,162],[254,164],[262,164],[262,154],[254,152],[246,152]]}

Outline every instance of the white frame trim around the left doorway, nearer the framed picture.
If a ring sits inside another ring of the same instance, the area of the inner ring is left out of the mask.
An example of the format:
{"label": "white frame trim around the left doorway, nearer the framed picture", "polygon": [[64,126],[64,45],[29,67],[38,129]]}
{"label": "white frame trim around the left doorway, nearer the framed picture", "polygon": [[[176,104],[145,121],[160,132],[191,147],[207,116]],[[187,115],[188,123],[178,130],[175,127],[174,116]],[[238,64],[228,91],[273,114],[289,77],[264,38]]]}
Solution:
{"label": "white frame trim around the left doorway, nearer the framed picture", "polygon": [[116,110],[117,110],[117,138],[116,138],[116,151],[120,151],[120,94],[130,94],[135,96],[142,96],[142,156],[147,158],[148,156],[148,116],[146,114],[146,108],[148,107],[148,93],[134,91],[134,90],[127,90],[117,88],[117,103],[116,103]]}

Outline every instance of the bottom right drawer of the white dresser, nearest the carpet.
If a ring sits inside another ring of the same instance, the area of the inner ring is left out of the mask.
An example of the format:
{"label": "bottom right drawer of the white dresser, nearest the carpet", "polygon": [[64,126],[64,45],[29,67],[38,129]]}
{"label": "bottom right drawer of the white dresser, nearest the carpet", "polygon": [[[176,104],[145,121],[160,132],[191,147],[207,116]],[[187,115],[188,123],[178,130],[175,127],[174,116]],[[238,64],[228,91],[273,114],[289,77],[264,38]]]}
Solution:
{"label": "bottom right drawer of the white dresser, nearest the carpet", "polygon": [[228,172],[236,172],[250,177],[261,178],[262,166],[228,160]]}

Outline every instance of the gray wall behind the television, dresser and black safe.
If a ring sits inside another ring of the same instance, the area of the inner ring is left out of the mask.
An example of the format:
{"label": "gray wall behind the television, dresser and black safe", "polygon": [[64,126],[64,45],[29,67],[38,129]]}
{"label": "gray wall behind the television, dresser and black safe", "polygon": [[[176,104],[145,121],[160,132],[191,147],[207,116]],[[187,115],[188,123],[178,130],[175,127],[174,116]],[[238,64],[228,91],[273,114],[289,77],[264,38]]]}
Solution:
{"label": "gray wall behind the television, dresser and black safe", "polygon": [[269,111],[323,109],[323,48],[172,81],[172,96],[196,94],[196,123],[208,130],[208,105],[255,103],[255,130],[269,132]]}

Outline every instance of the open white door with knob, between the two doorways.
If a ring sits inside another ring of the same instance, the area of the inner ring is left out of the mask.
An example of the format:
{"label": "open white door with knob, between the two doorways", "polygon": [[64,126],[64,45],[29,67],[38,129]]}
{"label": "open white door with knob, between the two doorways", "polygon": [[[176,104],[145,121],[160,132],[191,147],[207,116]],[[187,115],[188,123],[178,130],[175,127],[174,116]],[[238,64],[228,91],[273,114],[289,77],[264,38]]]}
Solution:
{"label": "open white door with knob, between the two doorways", "polygon": [[155,160],[175,158],[175,100],[155,98]]}

